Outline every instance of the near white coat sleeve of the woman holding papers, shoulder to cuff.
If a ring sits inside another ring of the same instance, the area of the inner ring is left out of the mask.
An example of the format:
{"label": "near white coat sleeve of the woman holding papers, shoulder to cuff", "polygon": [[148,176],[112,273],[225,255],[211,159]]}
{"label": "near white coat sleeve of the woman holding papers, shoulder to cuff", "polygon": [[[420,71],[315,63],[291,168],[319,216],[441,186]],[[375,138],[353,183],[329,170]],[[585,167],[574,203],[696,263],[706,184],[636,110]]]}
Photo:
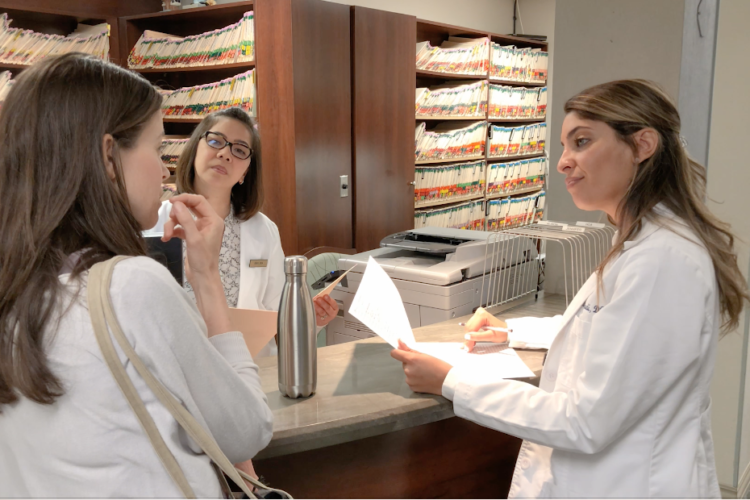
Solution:
{"label": "near white coat sleeve of the woman holding papers, shoulder to cuff", "polygon": [[576,353],[581,375],[567,392],[454,367],[443,394],[452,392],[456,415],[544,446],[597,453],[667,395],[686,400],[711,281],[669,248],[634,248],[620,258],[628,261],[611,301],[587,313],[590,335],[585,353]]}

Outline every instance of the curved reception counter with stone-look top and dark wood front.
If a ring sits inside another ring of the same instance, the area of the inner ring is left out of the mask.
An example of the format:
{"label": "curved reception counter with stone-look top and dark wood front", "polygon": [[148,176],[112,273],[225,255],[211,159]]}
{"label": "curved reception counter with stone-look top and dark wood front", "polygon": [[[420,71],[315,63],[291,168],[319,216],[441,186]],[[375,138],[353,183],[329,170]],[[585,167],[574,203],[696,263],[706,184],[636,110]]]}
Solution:
{"label": "curved reception counter with stone-look top and dark wood front", "polygon": [[[527,301],[499,317],[561,314],[560,296]],[[418,342],[460,342],[470,316],[417,328]],[[255,458],[271,486],[297,498],[501,498],[520,440],[459,419],[440,396],[415,394],[379,338],[318,349],[316,394],[281,396],[276,358],[258,360],[274,436]],[[535,373],[544,351],[518,350]]]}

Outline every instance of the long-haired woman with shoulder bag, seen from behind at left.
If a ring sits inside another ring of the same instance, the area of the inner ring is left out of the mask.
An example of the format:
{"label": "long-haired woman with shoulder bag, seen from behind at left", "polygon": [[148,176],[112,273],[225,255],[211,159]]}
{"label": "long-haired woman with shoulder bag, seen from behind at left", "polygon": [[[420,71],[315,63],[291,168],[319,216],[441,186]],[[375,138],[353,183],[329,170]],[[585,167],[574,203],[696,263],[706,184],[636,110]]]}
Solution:
{"label": "long-haired woman with shoulder bag, seen from behind at left", "polygon": [[[97,345],[90,268],[114,256],[114,314],[146,368],[233,462],[268,444],[258,368],[232,332],[218,255],[224,225],[201,196],[172,198],[165,238],[187,242],[190,300],[146,257],[164,129],[143,78],[81,54],[24,70],[0,114],[0,497],[174,497]],[[195,214],[193,220],[191,212]],[[179,225],[179,226],[178,226]],[[92,308],[93,310],[93,308]],[[133,363],[138,395],[195,495],[221,497],[196,449]],[[174,477],[174,476],[173,476]]]}

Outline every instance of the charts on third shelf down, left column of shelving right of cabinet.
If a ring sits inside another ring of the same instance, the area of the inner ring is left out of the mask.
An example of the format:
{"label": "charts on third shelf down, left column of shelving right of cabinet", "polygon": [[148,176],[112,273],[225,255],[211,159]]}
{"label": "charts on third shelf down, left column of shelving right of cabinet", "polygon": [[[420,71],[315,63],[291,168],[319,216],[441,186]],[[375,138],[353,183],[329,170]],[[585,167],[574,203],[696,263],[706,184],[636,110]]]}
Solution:
{"label": "charts on third shelf down, left column of shelving right of cabinet", "polygon": [[469,125],[442,122],[427,130],[425,122],[415,131],[416,161],[461,160],[484,156],[487,143],[487,122]]}

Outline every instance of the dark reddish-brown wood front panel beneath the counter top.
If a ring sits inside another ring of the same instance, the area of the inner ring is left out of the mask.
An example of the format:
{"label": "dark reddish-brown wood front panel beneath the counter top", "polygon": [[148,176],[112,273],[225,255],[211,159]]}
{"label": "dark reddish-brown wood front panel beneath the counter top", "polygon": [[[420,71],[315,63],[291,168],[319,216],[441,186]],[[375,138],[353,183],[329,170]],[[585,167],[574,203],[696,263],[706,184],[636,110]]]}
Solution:
{"label": "dark reddish-brown wood front panel beneath the counter top", "polygon": [[453,417],[254,464],[296,498],[506,498],[520,446]]}

